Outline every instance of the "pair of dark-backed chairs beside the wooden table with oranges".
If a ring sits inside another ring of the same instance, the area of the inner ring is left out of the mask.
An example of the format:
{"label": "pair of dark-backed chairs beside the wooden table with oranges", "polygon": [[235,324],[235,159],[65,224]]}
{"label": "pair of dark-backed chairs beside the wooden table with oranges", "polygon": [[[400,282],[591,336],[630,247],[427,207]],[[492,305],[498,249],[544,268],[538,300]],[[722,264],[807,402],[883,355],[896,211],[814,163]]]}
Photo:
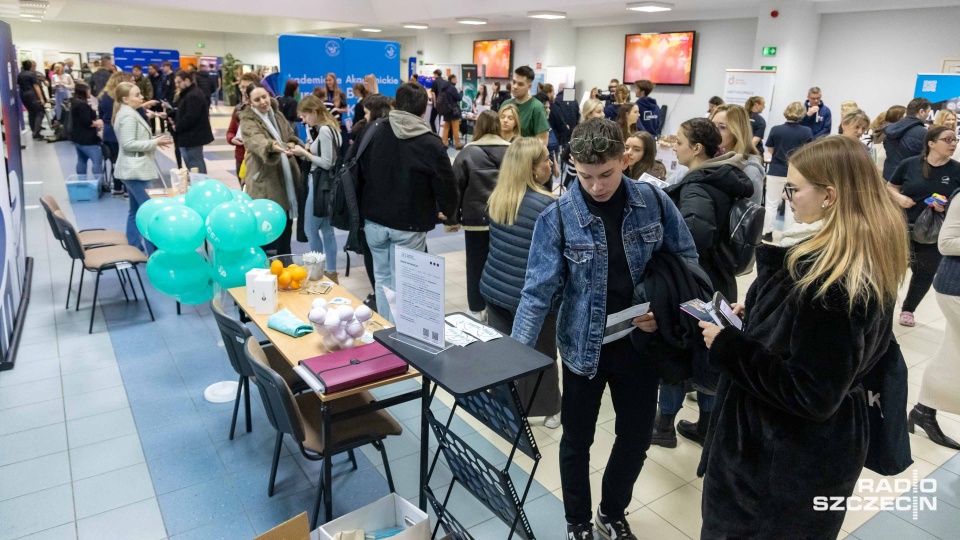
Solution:
{"label": "pair of dark-backed chairs beside the wooden table with oranges", "polygon": [[[289,362],[273,346],[263,347],[252,336],[250,329],[245,324],[228,316],[224,312],[219,298],[214,299],[210,307],[220,329],[230,365],[240,376],[240,385],[233,405],[233,419],[230,422],[230,439],[233,440],[237,426],[241,394],[244,394],[247,432],[249,433],[252,429],[250,421],[251,379],[260,391],[260,398],[267,418],[270,420],[270,425],[277,430],[267,495],[273,497],[284,435],[290,435],[297,443],[301,455],[312,461],[320,461],[324,457],[329,459],[346,452],[353,463],[354,470],[357,469],[357,458],[354,450],[367,444],[373,445],[383,459],[387,485],[390,492],[393,493],[395,491],[393,475],[390,472],[390,460],[387,458],[384,439],[403,433],[400,424],[387,411],[379,410],[364,414],[349,422],[333,424],[331,440],[324,441],[322,437],[323,418],[320,412],[321,401],[317,394],[310,391],[300,376],[293,371]],[[334,401],[332,412],[333,414],[345,413],[373,401],[375,401],[374,397],[369,392],[359,392]],[[317,527],[320,503],[323,500],[323,488],[323,475],[321,475],[320,481],[317,482],[317,500],[313,508],[311,529]],[[327,516],[328,519],[331,517]]]}

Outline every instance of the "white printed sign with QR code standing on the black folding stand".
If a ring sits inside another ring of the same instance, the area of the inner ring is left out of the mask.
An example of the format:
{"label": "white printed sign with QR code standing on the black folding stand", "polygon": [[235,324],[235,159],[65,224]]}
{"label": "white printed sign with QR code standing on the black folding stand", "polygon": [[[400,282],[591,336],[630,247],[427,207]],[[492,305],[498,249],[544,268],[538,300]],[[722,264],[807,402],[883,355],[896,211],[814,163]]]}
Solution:
{"label": "white printed sign with QR code standing on the black folding stand", "polygon": [[397,308],[393,318],[397,332],[444,348],[446,274],[443,257],[398,247],[394,266]]}

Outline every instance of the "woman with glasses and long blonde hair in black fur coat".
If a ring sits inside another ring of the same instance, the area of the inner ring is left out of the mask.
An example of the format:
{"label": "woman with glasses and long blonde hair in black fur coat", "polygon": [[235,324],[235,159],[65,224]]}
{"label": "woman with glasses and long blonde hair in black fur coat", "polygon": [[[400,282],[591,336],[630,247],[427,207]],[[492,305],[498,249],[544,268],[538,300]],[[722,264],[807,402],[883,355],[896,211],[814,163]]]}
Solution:
{"label": "woman with glasses and long blonde hair in black fur coat", "polygon": [[824,137],[791,156],[798,227],[757,248],[743,330],[699,323],[720,370],[697,474],[701,538],[836,538],[867,457],[862,379],[886,354],[907,231],[863,145]]}

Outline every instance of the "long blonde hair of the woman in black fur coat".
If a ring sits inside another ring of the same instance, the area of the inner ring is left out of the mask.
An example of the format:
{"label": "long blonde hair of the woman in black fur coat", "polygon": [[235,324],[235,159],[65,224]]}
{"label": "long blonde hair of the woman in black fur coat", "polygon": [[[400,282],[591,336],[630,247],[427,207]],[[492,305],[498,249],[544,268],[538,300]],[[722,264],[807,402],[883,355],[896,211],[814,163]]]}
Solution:
{"label": "long blonde hair of the woman in black fur coat", "polygon": [[825,297],[834,284],[849,298],[849,311],[877,302],[894,305],[907,273],[909,244],[903,211],[859,141],[833,135],[801,147],[790,157],[815,188],[836,190],[823,228],[790,250],[787,269],[802,295],[816,288]]}

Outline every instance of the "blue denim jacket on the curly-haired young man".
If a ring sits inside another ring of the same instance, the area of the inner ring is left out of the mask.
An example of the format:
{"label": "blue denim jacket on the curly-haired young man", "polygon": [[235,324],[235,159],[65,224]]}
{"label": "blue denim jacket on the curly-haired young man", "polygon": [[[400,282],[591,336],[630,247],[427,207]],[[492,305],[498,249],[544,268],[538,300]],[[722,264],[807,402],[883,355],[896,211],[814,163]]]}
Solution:
{"label": "blue denim jacket on the curly-haired young man", "polygon": [[[643,281],[644,268],[654,251],[696,261],[693,237],[670,198],[650,184],[626,176],[622,181],[627,186],[623,248],[634,287]],[[663,204],[662,220],[660,205],[651,196],[659,197]],[[561,248],[557,208],[552,204],[537,218],[535,247],[530,250],[512,335],[533,347],[552,299],[561,291],[557,318],[560,358],[570,371],[593,378],[607,317],[606,234],[600,218],[590,213],[580,189],[573,186],[559,199],[566,240]]]}

